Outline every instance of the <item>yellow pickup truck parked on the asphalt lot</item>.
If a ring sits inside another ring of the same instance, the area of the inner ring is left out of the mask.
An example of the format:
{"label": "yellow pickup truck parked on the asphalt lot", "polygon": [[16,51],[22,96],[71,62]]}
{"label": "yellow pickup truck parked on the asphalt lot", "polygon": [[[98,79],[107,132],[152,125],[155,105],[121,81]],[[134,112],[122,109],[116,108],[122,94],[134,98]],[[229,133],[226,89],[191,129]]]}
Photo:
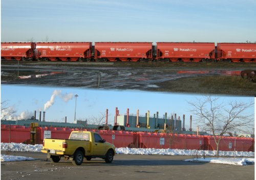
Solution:
{"label": "yellow pickup truck parked on the asphalt lot", "polygon": [[44,139],[41,152],[47,153],[52,163],[61,157],[71,160],[74,165],[81,165],[83,158],[102,158],[111,163],[115,156],[115,146],[105,142],[98,133],[90,131],[72,131],[69,139]]}

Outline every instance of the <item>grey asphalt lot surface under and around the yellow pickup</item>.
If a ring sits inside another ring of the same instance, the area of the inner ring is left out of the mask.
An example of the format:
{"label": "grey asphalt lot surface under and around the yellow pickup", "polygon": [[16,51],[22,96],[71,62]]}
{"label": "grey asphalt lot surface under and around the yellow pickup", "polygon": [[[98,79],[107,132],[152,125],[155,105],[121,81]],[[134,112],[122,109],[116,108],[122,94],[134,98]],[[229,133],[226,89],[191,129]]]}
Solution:
{"label": "grey asphalt lot surface under and around the yellow pickup", "polygon": [[[6,153],[6,152],[2,152]],[[60,160],[52,164],[40,152],[8,152],[36,158],[33,161],[1,162],[1,179],[175,179],[250,180],[254,165],[236,166],[186,162],[191,156],[116,155],[111,164],[102,159],[84,160],[81,166]]]}

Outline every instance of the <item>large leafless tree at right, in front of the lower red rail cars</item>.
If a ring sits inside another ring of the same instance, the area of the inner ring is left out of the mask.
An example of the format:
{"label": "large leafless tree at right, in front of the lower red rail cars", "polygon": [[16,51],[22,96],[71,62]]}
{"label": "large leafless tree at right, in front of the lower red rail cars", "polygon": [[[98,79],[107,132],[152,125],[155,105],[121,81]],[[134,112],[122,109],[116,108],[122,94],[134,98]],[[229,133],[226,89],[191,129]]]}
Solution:
{"label": "large leafless tree at right, in front of the lower red rail cars", "polygon": [[217,146],[217,158],[219,157],[219,144],[224,135],[233,132],[244,133],[248,128],[253,128],[253,113],[246,110],[254,105],[254,102],[237,102],[236,100],[226,104],[219,102],[219,98],[205,96],[197,99],[197,102],[188,102],[196,115],[196,120],[201,128],[211,133]]}

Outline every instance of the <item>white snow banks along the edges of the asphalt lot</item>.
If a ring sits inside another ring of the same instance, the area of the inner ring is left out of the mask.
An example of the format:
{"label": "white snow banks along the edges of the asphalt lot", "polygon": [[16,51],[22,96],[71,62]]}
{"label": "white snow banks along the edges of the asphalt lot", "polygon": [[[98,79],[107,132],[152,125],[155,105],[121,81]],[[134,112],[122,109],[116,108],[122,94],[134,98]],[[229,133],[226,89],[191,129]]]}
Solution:
{"label": "white snow banks along the edges of the asphalt lot", "polygon": [[[41,144],[27,145],[23,143],[1,143],[1,151],[27,151],[27,152],[40,152],[42,148]],[[128,155],[187,155],[187,156],[216,156],[216,151],[211,150],[185,150],[185,149],[155,149],[155,148],[128,148],[121,147],[116,148],[118,154]],[[220,151],[220,156],[225,157],[254,157],[254,152],[244,151]],[[1,155],[1,162],[5,161],[25,161],[33,160],[33,158],[18,157]],[[198,158],[189,159],[185,161],[194,162],[209,162],[220,164],[232,164],[232,165],[247,165],[254,164],[254,158]]]}

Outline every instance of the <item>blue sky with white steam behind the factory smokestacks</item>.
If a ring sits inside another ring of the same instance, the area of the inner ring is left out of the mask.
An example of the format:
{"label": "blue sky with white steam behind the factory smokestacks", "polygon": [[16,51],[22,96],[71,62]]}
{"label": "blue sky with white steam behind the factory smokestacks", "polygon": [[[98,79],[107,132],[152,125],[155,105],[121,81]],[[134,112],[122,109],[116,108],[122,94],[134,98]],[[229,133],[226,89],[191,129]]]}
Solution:
{"label": "blue sky with white steam behind the factory smokestacks", "polygon": [[[38,118],[39,111],[44,111],[46,102],[50,100],[56,90],[59,93],[54,99],[54,104],[46,109],[47,121],[64,122],[65,116],[67,116],[68,122],[73,122],[74,95],[78,94],[77,119],[99,118],[102,117],[101,114],[105,114],[106,109],[109,109],[109,123],[113,124],[115,108],[118,107],[119,114],[126,114],[127,108],[130,109],[130,114],[136,114],[139,109],[141,116],[145,116],[147,111],[150,111],[151,116],[158,111],[159,117],[163,117],[165,112],[168,117],[170,114],[176,113],[182,118],[185,114],[185,127],[189,128],[189,116],[193,114],[190,112],[191,107],[188,105],[188,101],[194,102],[196,98],[202,98],[201,95],[196,94],[2,85],[1,101],[8,100],[8,105],[17,111],[16,116],[23,114],[23,117],[31,117],[34,115],[34,111],[37,111]],[[68,101],[63,100],[63,97],[70,94],[72,98],[68,98]],[[254,100],[254,97],[219,96],[219,98],[223,102]],[[254,107],[248,109],[247,113],[254,114]],[[195,122],[193,122],[193,128],[196,128]]]}

